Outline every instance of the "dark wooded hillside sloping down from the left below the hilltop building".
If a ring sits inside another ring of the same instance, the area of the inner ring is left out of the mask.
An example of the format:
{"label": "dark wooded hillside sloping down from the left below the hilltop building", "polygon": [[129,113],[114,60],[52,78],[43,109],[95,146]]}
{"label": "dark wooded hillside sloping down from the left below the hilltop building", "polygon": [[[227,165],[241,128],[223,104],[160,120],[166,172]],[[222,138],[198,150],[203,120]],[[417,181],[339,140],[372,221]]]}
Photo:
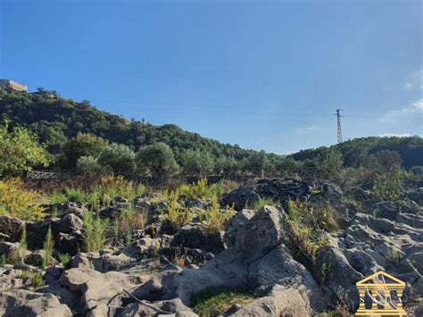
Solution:
{"label": "dark wooded hillside sloping down from the left below the hilltop building", "polygon": [[236,160],[255,153],[239,146],[203,138],[173,124],[154,126],[141,121],[129,121],[99,111],[87,101],[79,103],[41,89],[36,93],[0,89],[0,120],[5,119],[11,125],[29,126],[40,137],[40,141],[46,142],[52,153],[60,152],[66,140],[76,137],[79,132],[91,133],[110,142],[131,146],[135,150],[163,142],[172,148],[177,159],[188,149],[209,152],[214,157],[233,156]]}

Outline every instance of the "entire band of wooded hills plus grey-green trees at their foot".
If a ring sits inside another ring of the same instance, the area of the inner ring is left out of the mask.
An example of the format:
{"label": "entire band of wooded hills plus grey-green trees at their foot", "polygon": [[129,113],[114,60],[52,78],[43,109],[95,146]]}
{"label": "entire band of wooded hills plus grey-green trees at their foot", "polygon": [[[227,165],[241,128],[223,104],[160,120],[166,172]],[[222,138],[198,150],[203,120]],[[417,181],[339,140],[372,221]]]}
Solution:
{"label": "entire band of wooded hills plus grey-green trees at their foot", "polygon": [[[356,138],[282,157],[222,144],[173,124],[154,126],[144,120],[127,120],[100,111],[88,101],[64,99],[41,88],[35,93],[0,88],[2,121],[7,121],[9,130],[23,126],[37,134],[50,153],[50,167],[59,170],[105,168],[136,175],[141,169],[156,175],[196,176],[281,176],[318,171],[330,179],[344,167],[377,170],[402,165],[409,170],[423,165],[423,139],[419,137]],[[322,169],[329,165],[330,172]]]}

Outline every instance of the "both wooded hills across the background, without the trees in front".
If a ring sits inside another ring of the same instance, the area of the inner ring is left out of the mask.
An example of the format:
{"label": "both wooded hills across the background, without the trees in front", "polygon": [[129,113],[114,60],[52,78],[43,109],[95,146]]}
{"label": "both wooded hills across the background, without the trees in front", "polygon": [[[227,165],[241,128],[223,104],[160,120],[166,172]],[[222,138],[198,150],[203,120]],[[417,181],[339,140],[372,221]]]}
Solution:
{"label": "both wooded hills across the background, without the trees in front", "polygon": [[[386,150],[397,152],[406,169],[423,164],[423,139],[417,136],[356,138],[335,146],[303,150],[284,158],[222,144],[173,124],[154,126],[145,121],[129,121],[100,111],[88,101],[64,99],[54,91],[41,88],[35,93],[0,89],[0,121],[9,121],[11,127],[23,125],[35,132],[39,140],[46,144],[48,152],[57,158],[56,162],[60,161],[71,139],[83,132],[104,138],[110,143],[129,146],[134,151],[142,146],[165,143],[170,146],[181,167],[190,164],[191,171],[201,170],[203,174],[212,173],[214,169],[214,172],[225,170],[227,174],[243,171],[256,176],[284,175],[288,170],[298,171],[303,165],[315,169],[322,154],[333,149],[342,154],[344,167],[359,167],[369,161],[370,154]],[[193,150],[196,154],[187,159],[187,152]],[[60,168],[74,168],[78,158],[74,158],[73,165],[62,164]]]}

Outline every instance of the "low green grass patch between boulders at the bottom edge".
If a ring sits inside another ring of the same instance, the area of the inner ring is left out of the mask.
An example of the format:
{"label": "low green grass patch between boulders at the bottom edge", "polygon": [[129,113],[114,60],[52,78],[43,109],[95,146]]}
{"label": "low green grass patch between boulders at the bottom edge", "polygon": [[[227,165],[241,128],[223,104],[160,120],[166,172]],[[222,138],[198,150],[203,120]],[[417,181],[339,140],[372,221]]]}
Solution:
{"label": "low green grass patch between boulders at the bottom edge", "polygon": [[244,306],[251,303],[254,296],[242,290],[209,289],[197,294],[191,302],[191,308],[200,316],[224,314],[233,304]]}

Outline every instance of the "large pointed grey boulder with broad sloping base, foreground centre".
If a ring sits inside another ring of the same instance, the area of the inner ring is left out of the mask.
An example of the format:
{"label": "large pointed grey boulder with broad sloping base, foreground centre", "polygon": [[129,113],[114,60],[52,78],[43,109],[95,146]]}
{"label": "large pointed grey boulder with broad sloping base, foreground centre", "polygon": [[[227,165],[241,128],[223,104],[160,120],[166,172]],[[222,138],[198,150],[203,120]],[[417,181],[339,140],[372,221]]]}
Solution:
{"label": "large pointed grey boulder with broad sloping base, foreground centre", "polygon": [[261,297],[270,296],[269,301],[275,303],[279,297],[290,298],[291,294],[302,298],[300,302],[281,302],[286,304],[284,307],[274,304],[271,312],[275,315],[321,311],[324,303],[319,286],[283,244],[285,217],[282,209],[263,207],[250,220],[245,217],[242,229],[235,230],[230,239],[233,244],[203,267],[162,271],[135,289],[134,295],[149,301],[180,298],[183,304],[189,304],[196,294],[207,289],[249,288],[259,291]]}

